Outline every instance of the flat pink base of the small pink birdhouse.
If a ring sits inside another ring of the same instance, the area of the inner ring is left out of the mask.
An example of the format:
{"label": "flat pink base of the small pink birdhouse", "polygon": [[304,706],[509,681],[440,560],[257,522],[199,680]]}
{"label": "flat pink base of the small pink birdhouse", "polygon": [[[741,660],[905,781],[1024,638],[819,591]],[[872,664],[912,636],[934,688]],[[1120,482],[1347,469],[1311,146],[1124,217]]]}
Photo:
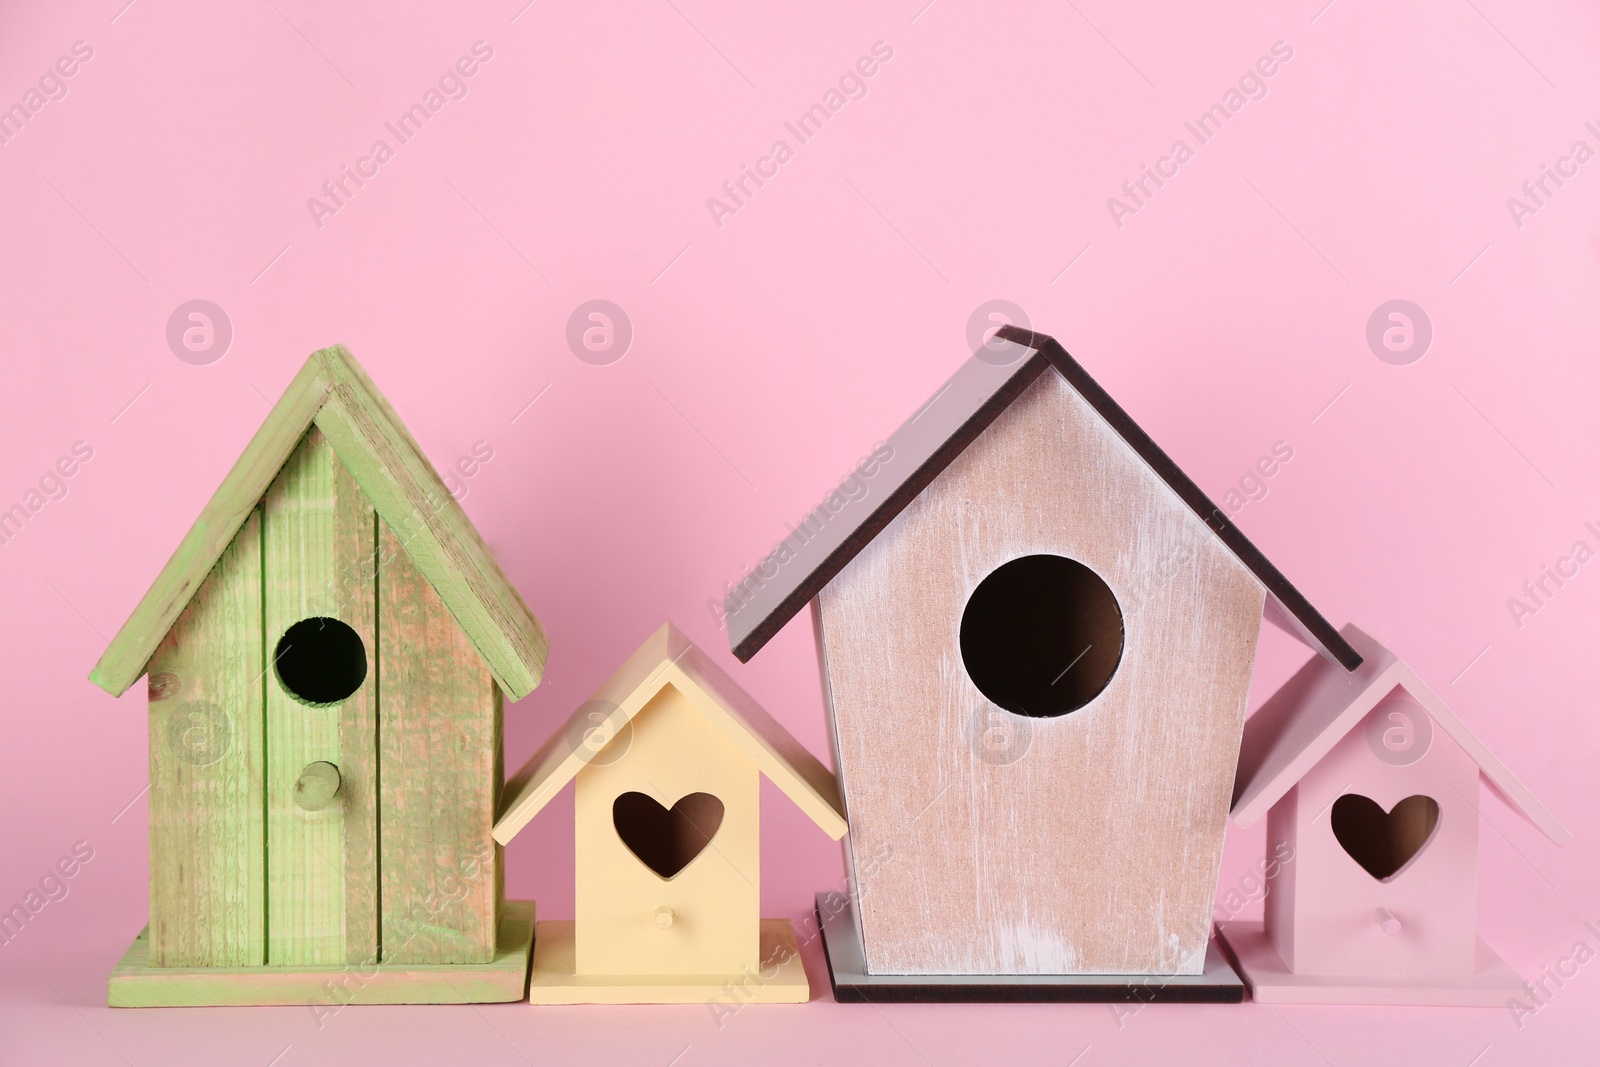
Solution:
{"label": "flat pink base of the small pink birdhouse", "polygon": [[1267,1005],[1419,1005],[1504,1008],[1507,997],[1525,995],[1522,979],[1478,939],[1477,974],[1294,974],[1267,941],[1261,923],[1222,923],[1218,937],[1227,945],[1250,995]]}

